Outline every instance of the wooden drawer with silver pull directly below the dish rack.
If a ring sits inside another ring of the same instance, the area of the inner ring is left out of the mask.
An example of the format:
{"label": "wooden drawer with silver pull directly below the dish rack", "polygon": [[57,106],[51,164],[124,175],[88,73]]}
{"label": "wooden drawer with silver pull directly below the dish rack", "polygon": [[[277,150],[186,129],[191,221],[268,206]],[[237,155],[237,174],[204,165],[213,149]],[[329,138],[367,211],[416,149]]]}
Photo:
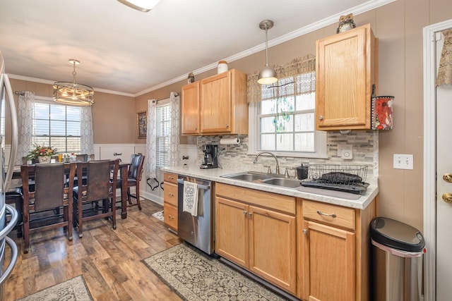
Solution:
{"label": "wooden drawer with silver pull directly below the dish rack", "polygon": [[355,209],[321,202],[302,201],[304,219],[355,230]]}

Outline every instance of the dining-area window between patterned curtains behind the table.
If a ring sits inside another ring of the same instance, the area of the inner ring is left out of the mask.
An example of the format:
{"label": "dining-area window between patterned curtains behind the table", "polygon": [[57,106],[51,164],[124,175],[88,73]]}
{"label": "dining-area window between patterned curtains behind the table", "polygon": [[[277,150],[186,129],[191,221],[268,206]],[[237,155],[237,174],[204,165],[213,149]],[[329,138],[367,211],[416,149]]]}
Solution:
{"label": "dining-area window between patterned curtains behind the table", "polygon": [[81,152],[81,108],[34,102],[32,141],[54,147],[60,153]]}

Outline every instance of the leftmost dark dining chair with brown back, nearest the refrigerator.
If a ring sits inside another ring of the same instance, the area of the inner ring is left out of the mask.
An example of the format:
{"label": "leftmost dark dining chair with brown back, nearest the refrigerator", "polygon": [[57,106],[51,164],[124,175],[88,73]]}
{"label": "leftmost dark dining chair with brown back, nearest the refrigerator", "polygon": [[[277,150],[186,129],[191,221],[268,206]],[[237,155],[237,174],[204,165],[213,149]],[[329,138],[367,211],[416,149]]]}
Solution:
{"label": "leftmost dark dining chair with brown back, nearest the refrigerator", "polygon": [[[31,233],[64,227],[68,231],[69,240],[72,240],[71,201],[76,165],[66,164],[66,167],[69,167],[69,179],[72,179],[69,180],[69,185],[66,185],[63,163],[20,166],[24,253],[28,253]],[[29,185],[28,180],[32,177],[35,178],[35,185]],[[62,215],[59,214],[61,207]]]}

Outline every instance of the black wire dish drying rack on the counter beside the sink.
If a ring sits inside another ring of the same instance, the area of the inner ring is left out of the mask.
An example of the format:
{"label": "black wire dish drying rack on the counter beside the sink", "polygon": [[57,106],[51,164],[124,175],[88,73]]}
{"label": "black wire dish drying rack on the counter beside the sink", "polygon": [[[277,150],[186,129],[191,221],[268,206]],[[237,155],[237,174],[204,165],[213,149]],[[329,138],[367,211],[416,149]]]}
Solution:
{"label": "black wire dish drying rack on the counter beside the sink", "polygon": [[367,166],[309,165],[308,176],[302,186],[339,190],[362,195],[367,190]]}

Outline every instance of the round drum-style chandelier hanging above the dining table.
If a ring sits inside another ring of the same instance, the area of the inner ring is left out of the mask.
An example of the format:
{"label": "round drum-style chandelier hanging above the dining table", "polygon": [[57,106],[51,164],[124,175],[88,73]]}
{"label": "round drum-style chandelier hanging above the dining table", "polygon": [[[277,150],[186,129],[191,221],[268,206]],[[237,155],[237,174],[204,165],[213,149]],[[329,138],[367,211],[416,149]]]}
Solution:
{"label": "round drum-style chandelier hanging above the dining table", "polygon": [[80,61],[70,59],[69,63],[73,64],[73,82],[55,82],[54,101],[75,106],[90,106],[94,104],[93,88],[76,83],[76,65],[78,65]]}

